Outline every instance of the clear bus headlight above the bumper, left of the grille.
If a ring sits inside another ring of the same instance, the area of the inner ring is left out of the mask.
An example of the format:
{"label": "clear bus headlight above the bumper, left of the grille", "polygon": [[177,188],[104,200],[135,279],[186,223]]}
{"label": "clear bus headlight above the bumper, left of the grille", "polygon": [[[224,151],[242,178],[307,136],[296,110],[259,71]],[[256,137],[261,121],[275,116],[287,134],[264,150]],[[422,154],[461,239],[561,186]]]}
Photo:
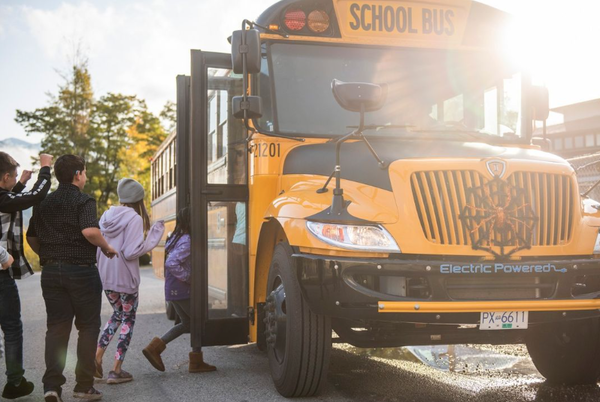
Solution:
{"label": "clear bus headlight above the bumper, left of the grille", "polygon": [[390,233],[381,226],[306,222],[308,230],[325,243],[351,250],[400,252]]}

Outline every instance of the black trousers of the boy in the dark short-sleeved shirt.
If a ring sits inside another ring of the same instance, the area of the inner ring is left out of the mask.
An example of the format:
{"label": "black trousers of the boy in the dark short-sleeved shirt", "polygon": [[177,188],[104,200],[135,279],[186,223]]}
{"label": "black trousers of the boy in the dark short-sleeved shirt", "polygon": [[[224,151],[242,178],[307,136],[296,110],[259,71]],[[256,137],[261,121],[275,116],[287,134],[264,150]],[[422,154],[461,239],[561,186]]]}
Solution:
{"label": "black trousers of the boy in the dark short-sleeved shirt", "polygon": [[48,264],[42,270],[42,295],[46,303],[46,372],[44,392],[62,392],[69,335],[75,318],[79,331],[75,392],[94,384],[95,355],[100,333],[102,282],[95,265]]}

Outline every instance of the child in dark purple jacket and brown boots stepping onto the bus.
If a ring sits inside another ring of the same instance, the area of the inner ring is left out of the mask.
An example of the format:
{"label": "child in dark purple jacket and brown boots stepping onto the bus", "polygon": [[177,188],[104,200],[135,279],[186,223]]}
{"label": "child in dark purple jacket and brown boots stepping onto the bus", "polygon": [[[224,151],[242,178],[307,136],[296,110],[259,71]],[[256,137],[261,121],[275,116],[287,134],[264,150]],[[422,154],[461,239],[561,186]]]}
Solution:
{"label": "child in dark purple jacket and brown boots stepping onto the bus", "polygon": [[[177,214],[175,230],[165,244],[165,299],[172,303],[181,322],[160,338],[155,337],[143,350],[144,356],[159,371],[165,371],[160,354],[167,344],[183,334],[190,333],[190,290],[192,279],[191,261],[191,214],[189,207]],[[190,352],[190,373],[216,370],[204,363],[202,352]]]}

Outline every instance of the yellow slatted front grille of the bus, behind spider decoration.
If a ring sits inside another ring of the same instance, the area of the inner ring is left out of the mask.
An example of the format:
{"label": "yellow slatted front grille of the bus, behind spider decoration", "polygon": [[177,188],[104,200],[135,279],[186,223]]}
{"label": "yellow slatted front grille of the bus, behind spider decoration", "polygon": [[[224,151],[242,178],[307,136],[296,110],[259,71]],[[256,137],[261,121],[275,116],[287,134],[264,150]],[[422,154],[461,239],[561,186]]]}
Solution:
{"label": "yellow slatted front grille of the bus, behind spider decoration", "polygon": [[[523,219],[524,209],[518,209],[514,213],[516,220],[511,220],[513,233],[508,237],[528,238],[531,246],[557,246],[571,239],[575,190],[569,176],[515,172],[505,183],[508,183],[513,196],[518,194],[521,197],[521,205],[531,208],[532,216],[535,217],[535,221],[527,221]],[[475,230],[467,227],[460,218],[467,205],[485,208],[474,196],[474,188],[496,184],[472,170],[413,173],[412,194],[425,237],[436,244],[459,246],[472,246],[473,240],[477,242],[484,237],[484,242],[505,241],[493,230],[493,219]],[[497,199],[494,201],[498,202]]]}

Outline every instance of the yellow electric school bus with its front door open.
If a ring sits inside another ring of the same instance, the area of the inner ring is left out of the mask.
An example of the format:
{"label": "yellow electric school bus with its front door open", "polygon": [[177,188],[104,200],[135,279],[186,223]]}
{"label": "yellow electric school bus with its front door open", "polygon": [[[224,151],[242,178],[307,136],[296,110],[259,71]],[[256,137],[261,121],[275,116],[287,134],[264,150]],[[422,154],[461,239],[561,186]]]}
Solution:
{"label": "yellow electric school bus with its front door open", "polygon": [[532,145],[547,92],[504,52],[508,21],[466,0],[284,0],[231,55],[191,52],[192,346],[256,342],[284,396],[326,382],[332,330],[524,342],[550,381],[598,381],[600,203]]}

